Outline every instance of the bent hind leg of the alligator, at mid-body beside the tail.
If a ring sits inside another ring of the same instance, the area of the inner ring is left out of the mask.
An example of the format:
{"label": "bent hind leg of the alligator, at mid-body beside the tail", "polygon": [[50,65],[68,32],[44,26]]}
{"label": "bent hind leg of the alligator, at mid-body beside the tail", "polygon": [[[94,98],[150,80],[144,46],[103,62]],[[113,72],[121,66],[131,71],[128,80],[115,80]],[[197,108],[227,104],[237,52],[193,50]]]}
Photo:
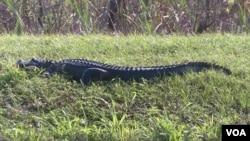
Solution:
{"label": "bent hind leg of the alligator, at mid-body beside the tail", "polygon": [[83,72],[81,82],[87,85],[91,81],[103,81],[109,79],[110,74],[108,71],[100,68],[88,68]]}

